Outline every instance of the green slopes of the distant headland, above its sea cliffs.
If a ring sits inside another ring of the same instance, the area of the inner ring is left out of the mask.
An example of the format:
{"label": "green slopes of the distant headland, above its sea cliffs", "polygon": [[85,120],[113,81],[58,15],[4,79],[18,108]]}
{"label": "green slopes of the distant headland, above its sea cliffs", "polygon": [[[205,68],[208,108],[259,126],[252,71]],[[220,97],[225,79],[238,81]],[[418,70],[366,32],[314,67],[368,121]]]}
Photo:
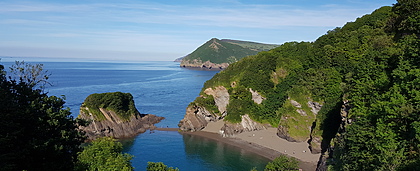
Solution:
{"label": "green slopes of the distant headland, above its sea cliffs", "polygon": [[267,49],[270,47],[273,47],[273,45],[232,40],[221,41],[213,38],[198,47],[191,54],[184,57],[183,61],[193,61],[197,59],[202,62],[210,61],[216,64],[230,64],[242,59],[243,57],[255,55],[261,51],[261,49]]}

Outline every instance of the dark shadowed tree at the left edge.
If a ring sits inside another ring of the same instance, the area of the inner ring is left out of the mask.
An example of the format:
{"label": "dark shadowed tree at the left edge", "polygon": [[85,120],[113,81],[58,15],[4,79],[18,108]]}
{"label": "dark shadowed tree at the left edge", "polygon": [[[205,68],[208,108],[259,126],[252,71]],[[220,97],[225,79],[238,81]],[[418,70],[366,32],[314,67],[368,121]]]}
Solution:
{"label": "dark shadowed tree at the left edge", "polygon": [[74,120],[68,108],[64,109],[63,99],[36,88],[47,78],[37,75],[38,70],[31,70],[40,66],[24,66],[12,68],[32,75],[13,75],[8,79],[0,65],[1,169],[72,170],[79,145],[84,141],[77,130],[77,124],[82,122]]}

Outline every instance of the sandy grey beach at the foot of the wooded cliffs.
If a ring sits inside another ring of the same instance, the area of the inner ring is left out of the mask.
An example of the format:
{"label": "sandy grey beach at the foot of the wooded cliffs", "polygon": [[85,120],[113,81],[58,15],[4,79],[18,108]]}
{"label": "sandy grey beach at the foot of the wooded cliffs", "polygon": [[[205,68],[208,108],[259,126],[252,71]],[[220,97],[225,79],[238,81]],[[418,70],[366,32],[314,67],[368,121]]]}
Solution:
{"label": "sandy grey beach at the foot of the wooded cliffs", "polygon": [[[303,143],[285,142],[281,141],[280,137],[273,134],[275,128],[267,130],[245,132],[236,135],[235,137],[222,137],[214,131],[196,131],[196,132],[179,132],[180,134],[189,134],[208,138],[214,141],[219,141],[231,146],[235,146],[246,150],[248,152],[265,157],[269,160],[274,160],[280,155],[295,157],[299,161],[299,168],[306,171],[316,170],[319,154],[311,154],[310,151],[297,151],[303,147]],[[157,128],[158,131],[178,131],[178,128]],[[273,147],[274,146],[274,147]],[[306,145],[307,146],[307,145]],[[281,151],[280,149],[289,149]],[[307,149],[307,148],[306,148]],[[294,152],[294,153],[293,153]]]}

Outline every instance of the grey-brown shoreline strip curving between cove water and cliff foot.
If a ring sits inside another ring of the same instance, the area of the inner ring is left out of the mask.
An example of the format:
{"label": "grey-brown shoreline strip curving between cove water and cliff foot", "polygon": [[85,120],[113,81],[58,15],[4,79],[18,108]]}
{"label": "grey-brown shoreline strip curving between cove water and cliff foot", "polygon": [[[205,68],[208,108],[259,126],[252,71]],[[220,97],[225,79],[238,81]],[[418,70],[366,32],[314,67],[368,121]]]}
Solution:
{"label": "grey-brown shoreline strip curving between cove water and cliff foot", "polygon": [[[178,128],[156,128],[155,130],[158,131],[178,131]],[[265,131],[265,132],[262,132]],[[299,161],[299,168],[301,168],[302,170],[306,171],[314,171],[316,170],[317,167],[317,162],[319,159],[319,154],[315,155],[315,154],[311,154],[309,151],[304,153],[304,154],[299,154],[295,152],[295,156],[288,154],[287,151],[286,152],[281,152],[278,149],[273,149],[270,148],[269,146],[267,146],[264,143],[258,142],[258,141],[253,141],[252,139],[249,140],[249,138],[253,137],[255,139],[258,140],[263,140],[264,142],[271,142],[274,143],[276,146],[279,146],[279,144],[276,144],[278,142],[275,141],[271,141],[271,140],[267,140],[267,136],[266,133],[270,133],[267,132],[267,130],[262,130],[262,131],[252,131],[252,132],[245,132],[245,133],[241,133],[236,135],[235,137],[222,137],[220,136],[218,133],[215,132],[209,132],[209,131],[196,131],[196,132],[179,132],[181,135],[183,134],[187,134],[187,135],[195,135],[195,136],[200,136],[203,138],[208,138],[214,141],[218,141],[218,142],[222,142],[231,146],[235,146],[238,147],[240,149],[243,149],[247,152],[251,152],[254,154],[257,154],[259,156],[262,156],[264,158],[267,158],[269,160],[274,160],[276,157],[280,156],[280,155],[285,155],[288,157],[295,157],[298,161]],[[272,130],[271,130],[272,131]],[[257,136],[252,136],[252,135],[257,135]],[[274,134],[275,135],[275,134]],[[251,136],[251,137],[250,137]],[[272,136],[272,135],[270,135]],[[244,138],[244,137],[249,137],[249,138]],[[261,138],[263,137],[263,138]],[[277,135],[273,136],[272,138],[274,139],[280,139],[279,137],[277,137]],[[260,139],[261,138],[261,139]],[[286,141],[286,140],[284,140]],[[289,142],[289,143],[293,143],[293,142]],[[286,146],[282,146],[284,148],[288,148],[287,144],[283,144],[282,145],[286,145]],[[296,143],[295,143],[296,144]],[[302,152],[301,152],[302,153]],[[308,158],[302,158],[302,155],[304,156],[311,156],[314,157],[316,156],[316,160],[314,160],[314,158],[312,158],[312,160],[308,159]]]}

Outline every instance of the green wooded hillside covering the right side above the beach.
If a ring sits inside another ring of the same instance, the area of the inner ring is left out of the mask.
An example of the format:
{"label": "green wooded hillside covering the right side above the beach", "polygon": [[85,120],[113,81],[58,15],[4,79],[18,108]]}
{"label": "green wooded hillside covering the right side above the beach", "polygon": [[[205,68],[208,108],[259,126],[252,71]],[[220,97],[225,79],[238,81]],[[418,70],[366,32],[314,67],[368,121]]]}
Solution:
{"label": "green wooded hillside covering the right side above the beach", "polygon": [[[243,58],[207,81],[191,104],[219,113],[207,88],[230,94],[225,120],[241,115],[286,127],[291,137],[332,145],[335,170],[419,170],[420,1],[400,0],[337,27],[314,42],[289,42]],[[251,99],[249,89],[266,98]],[[303,120],[291,100],[310,112]],[[346,104],[346,109],[344,108]],[[348,113],[342,112],[348,110]],[[308,124],[309,122],[309,124]]]}

